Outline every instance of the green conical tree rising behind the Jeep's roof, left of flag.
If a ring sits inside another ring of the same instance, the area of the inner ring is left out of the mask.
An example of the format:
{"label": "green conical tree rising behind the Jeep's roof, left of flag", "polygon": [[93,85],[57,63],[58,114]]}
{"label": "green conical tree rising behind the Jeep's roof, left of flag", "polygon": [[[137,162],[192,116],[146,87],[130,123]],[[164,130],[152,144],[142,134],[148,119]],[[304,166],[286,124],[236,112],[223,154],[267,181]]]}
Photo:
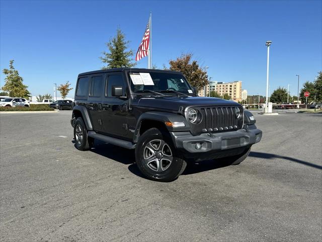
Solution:
{"label": "green conical tree rising behind the Jeep's roof, left of flag", "polygon": [[130,60],[130,56],[133,55],[133,50],[126,51],[129,42],[125,40],[125,34],[118,28],[116,30],[116,36],[106,43],[109,52],[103,51],[102,54],[104,56],[100,57],[101,61],[107,64],[102,69],[134,67],[135,63],[132,63]]}

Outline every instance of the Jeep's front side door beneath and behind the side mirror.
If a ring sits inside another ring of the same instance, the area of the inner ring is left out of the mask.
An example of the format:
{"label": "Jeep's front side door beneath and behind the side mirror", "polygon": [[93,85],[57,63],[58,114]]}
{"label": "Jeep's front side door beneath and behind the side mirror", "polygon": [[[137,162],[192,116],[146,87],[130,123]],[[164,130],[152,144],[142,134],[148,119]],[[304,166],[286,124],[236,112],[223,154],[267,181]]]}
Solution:
{"label": "Jeep's front side door beneath and behind the side mirror", "polygon": [[[123,95],[127,98],[112,96],[112,87],[122,86]],[[129,113],[129,94],[126,92],[126,85],[122,73],[110,73],[106,76],[105,95],[102,99],[103,130],[102,133],[128,139],[129,130],[127,119]]]}

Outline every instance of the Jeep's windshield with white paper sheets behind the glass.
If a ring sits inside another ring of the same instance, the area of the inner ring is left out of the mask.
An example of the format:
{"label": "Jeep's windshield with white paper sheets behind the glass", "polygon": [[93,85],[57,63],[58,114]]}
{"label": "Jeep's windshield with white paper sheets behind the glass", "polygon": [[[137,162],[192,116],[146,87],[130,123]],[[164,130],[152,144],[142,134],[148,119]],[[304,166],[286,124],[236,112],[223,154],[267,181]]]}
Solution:
{"label": "Jeep's windshield with white paper sheets behind the glass", "polygon": [[[178,95],[192,95],[192,89],[182,74],[175,73],[129,73],[131,89],[136,93],[153,92]],[[179,93],[178,93],[179,92]],[[157,94],[154,93],[154,94]]]}

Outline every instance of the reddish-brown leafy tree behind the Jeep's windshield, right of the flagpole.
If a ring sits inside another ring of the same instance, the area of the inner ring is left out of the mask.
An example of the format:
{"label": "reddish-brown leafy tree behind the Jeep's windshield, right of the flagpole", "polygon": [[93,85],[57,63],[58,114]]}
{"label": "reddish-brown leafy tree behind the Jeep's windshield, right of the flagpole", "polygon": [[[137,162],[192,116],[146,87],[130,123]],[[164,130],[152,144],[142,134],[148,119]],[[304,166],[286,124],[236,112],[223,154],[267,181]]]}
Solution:
{"label": "reddish-brown leafy tree behind the Jeep's windshield, right of the flagpole", "polygon": [[[182,72],[188,82],[197,90],[201,90],[208,85],[208,76],[205,71],[199,67],[197,61],[192,61],[192,54],[182,54],[177,59],[169,61],[170,70]],[[164,69],[167,69],[164,67]]]}

